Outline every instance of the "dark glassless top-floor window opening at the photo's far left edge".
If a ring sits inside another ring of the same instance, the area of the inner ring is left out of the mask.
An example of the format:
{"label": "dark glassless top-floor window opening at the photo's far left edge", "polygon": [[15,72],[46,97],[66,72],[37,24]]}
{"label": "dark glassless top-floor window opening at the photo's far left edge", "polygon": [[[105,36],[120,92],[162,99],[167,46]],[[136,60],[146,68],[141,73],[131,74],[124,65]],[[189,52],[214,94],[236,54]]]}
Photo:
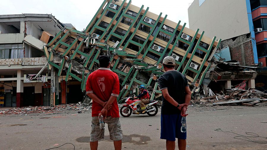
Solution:
{"label": "dark glassless top-floor window opening at the photo's far left edge", "polygon": [[0,22],[0,33],[20,33],[20,22]]}

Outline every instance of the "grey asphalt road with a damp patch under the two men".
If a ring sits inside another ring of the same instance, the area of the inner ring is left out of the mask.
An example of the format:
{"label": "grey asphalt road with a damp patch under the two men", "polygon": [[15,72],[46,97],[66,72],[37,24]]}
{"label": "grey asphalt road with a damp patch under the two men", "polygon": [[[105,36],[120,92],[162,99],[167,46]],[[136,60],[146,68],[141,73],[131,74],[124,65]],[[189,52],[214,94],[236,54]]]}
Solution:
{"label": "grey asphalt road with a damp patch under the two men", "polygon": [[[267,137],[267,107],[219,106],[192,107],[187,116],[187,149],[266,149],[267,144],[234,138],[246,132]],[[91,114],[14,114],[0,115],[0,149],[49,149],[54,144],[72,143],[75,149],[90,149]],[[154,116],[121,117],[123,149],[165,149],[160,139],[160,111]],[[252,141],[267,141],[253,137]],[[66,144],[58,149],[73,149]],[[105,129],[105,139],[98,149],[114,149]],[[178,149],[178,148],[177,148]]]}

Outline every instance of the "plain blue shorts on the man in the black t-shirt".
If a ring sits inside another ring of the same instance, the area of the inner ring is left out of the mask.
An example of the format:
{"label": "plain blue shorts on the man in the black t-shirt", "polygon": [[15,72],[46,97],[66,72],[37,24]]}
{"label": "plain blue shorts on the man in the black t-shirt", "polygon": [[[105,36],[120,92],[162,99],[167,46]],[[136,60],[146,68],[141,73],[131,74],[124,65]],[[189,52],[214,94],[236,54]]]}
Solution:
{"label": "plain blue shorts on the man in the black t-shirt", "polygon": [[161,114],[160,138],[169,141],[186,139],[186,132],[181,132],[181,118],[181,114]]}

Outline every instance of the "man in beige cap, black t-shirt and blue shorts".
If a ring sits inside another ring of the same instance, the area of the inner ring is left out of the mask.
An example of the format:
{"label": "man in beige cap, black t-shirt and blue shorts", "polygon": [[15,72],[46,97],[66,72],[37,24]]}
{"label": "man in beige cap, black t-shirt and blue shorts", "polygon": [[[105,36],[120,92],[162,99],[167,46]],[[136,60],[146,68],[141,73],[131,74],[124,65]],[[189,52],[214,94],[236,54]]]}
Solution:
{"label": "man in beige cap, black t-shirt and blue shorts", "polygon": [[160,138],[166,139],[166,149],[175,149],[178,138],[179,150],[186,147],[186,132],[181,132],[181,118],[185,117],[187,105],[191,99],[191,91],[184,75],[174,69],[175,60],[171,56],[163,59],[166,71],[159,78],[162,92],[161,132]]}

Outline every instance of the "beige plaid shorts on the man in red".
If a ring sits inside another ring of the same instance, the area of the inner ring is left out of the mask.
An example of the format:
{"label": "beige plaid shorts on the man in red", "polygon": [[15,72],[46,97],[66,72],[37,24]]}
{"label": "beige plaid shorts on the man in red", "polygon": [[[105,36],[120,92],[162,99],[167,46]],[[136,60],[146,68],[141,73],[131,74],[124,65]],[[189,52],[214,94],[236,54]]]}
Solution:
{"label": "beige plaid shorts on the man in red", "polygon": [[[112,118],[111,116],[107,117],[104,120],[104,123],[107,123],[109,128],[109,138],[113,141],[120,141],[122,139],[122,130],[120,126],[119,118]],[[98,140],[104,139],[104,129],[99,128],[98,117],[92,117],[92,130],[90,136],[90,142],[96,142]]]}

